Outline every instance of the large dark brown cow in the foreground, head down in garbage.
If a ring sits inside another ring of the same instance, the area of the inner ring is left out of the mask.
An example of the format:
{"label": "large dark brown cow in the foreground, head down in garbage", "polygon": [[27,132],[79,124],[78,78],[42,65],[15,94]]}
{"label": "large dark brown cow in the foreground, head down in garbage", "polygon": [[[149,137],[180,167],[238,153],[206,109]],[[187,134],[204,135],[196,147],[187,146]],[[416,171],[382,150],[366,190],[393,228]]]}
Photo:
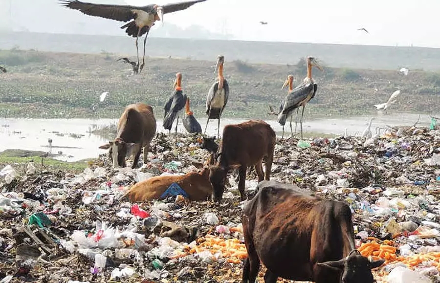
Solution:
{"label": "large dark brown cow in the foreground, head down in garbage", "polygon": [[354,246],[352,212],[343,202],[327,200],[274,180],[262,181],[243,208],[248,258],[243,283],[254,283],[263,262],[265,283],[277,278],[316,283],[373,283],[370,261]]}

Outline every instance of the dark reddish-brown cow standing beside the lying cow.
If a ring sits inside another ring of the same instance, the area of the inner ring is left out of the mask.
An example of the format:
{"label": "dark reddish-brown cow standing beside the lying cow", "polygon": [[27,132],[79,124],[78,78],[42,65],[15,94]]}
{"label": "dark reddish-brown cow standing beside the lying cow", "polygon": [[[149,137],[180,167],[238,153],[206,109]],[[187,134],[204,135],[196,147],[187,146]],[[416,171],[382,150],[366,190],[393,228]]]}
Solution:
{"label": "dark reddish-brown cow standing beside the lying cow", "polygon": [[[209,180],[213,187],[214,200],[220,202],[224,183],[229,170],[239,168],[239,191],[241,199],[246,199],[244,185],[247,167],[255,166],[258,181],[269,180],[275,148],[275,131],[262,120],[251,120],[237,125],[226,125],[217,163],[210,166]],[[266,174],[262,162],[265,158]]]}

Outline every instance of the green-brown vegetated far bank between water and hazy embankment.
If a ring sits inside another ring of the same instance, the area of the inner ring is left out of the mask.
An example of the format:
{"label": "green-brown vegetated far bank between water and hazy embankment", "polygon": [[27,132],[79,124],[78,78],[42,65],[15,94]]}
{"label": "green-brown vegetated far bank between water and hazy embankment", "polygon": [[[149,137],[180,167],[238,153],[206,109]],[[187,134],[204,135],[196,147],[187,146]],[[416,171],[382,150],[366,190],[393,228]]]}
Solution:
{"label": "green-brown vegetated far bank between water and hazy embankment", "polygon": [[[172,93],[176,72],[182,72],[182,87],[191,99],[196,117],[204,116],[209,87],[215,81],[213,61],[147,58],[140,75],[131,75],[131,65],[117,56],[72,54],[36,50],[0,50],[0,116],[29,118],[117,118],[128,104],[145,102],[154,107],[157,118]],[[133,58],[132,58],[133,60]],[[325,66],[325,64],[323,64]],[[280,90],[286,76],[294,85],[306,75],[304,58],[296,65],[228,62],[225,77],[230,85],[230,118],[273,119],[268,105],[276,108],[286,96]],[[401,89],[390,111],[433,113],[440,104],[440,74],[410,70],[408,76],[396,71],[331,68],[315,69],[318,93],[306,108],[306,115],[345,116],[375,113],[374,104],[387,101]],[[109,91],[106,100],[99,95]],[[92,106],[98,103],[95,111]]]}

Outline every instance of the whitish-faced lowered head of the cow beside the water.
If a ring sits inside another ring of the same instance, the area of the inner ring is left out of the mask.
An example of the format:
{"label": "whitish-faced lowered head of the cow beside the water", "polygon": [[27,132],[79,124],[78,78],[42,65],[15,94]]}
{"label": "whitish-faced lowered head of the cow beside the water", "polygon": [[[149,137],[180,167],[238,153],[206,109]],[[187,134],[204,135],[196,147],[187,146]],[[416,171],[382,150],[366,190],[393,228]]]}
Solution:
{"label": "whitish-faced lowered head of the cow beside the water", "polygon": [[125,158],[132,155],[133,152],[140,149],[140,144],[137,143],[126,143],[121,138],[116,138],[114,141],[109,141],[109,143],[99,147],[103,150],[109,150],[110,160],[113,163],[113,168],[126,167],[127,163]]}

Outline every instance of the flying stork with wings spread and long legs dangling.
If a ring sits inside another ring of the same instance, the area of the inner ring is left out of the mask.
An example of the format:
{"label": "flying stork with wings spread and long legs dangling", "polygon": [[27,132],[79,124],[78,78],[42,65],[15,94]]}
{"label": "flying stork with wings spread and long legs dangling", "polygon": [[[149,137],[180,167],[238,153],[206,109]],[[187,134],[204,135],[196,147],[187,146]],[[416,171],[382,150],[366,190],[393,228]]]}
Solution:
{"label": "flying stork with wings spread and long legs dangling", "polygon": [[110,4],[94,4],[86,3],[78,0],[60,0],[61,4],[65,7],[74,10],[80,10],[84,14],[106,18],[110,20],[128,22],[121,26],[121,28],[127,28],[125,32],[132,37],[136,38],[136,52],[137,52],[137,66],[139,66],[139,50],[137,48],[137,40],[144,34],[144,57],[142,65],[140,65],[139,72],[142,71],[145,65],[145,43],[147,42],[147,36],[151,27],[155,21],[162,21],[163,15],[167,13],[173,13],[176,11],[185,10],[186,8],[194,5],[198,2],[206,0],[192,0],[185,2],[177,2],[166,5],[150,4],[147,6],[130,6],[130,5],[110,5]]}

